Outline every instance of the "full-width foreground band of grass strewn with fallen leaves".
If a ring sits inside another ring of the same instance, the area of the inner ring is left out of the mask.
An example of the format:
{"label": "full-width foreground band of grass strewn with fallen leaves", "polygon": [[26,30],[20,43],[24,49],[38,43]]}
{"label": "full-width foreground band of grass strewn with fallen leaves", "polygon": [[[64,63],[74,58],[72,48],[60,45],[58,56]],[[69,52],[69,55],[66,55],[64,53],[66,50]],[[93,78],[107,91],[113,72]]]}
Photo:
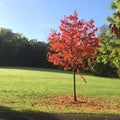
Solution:
{"label": "full-width foreground band of grass strewn with fallen leaves", "polygon": [[17,96],[17,99],[6,99],[0,104],[17,111],[120,114],[120,100],[105,100],[97,97],[77,96],[77,102],[74,102],[72,95],[24,96],[22,98]]}

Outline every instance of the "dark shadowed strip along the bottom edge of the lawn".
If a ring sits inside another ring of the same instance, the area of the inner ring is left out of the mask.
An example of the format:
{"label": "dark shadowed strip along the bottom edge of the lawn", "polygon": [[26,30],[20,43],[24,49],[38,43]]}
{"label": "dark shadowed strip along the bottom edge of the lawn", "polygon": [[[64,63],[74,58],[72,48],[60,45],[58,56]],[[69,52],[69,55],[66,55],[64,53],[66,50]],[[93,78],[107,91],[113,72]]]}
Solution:
{"label": "dark shadowed strip along the bottom edge of the lawn", "polygon": [[0,120],[120,120],[120,114],[55,114],[45,112],[17,112],[0,106]]}

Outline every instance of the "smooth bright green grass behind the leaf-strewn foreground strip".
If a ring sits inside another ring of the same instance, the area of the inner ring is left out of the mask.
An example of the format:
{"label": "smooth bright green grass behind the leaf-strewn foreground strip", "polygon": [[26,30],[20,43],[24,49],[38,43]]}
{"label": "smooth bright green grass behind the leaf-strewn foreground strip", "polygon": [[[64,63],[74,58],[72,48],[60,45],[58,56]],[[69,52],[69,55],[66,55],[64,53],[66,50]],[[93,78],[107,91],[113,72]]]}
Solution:
{"label": "smooth bright green grass behind the leaf-strewn foreground strip", "polygon": [[[119,97],[120,79],[84,75],[85,84],[78,75],[77,94],[93,97]],[[19,95],[71,95],[73,76],[70,72],[49,69],[0,69],[0,92]]]}

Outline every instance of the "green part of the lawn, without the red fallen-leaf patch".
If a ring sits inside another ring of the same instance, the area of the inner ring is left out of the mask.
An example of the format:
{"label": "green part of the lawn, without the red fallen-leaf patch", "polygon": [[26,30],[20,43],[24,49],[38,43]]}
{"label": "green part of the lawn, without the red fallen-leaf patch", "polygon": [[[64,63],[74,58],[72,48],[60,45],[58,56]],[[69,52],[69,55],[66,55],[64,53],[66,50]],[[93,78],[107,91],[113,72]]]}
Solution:
{"label": "green part of the lawn, without the red fallen-leaf patch", "polygon": [[[119,78],[97,77],[89,74],[83,76],[86,78],[87,84],[76,75],[78,96],[99,98],[120,105]],[[72,94],[73,76],[71,72],[38,68],[0,68],[0,106],[10,107],[17,111],[61,112],[59,107],[56,107],[56,111],[51,109],[50,96],[59,97]],[[47,102],[45,102],[46,100]],[[106,113],[119,113],[118,108],[117,111],[107,110]],[[70,111],[67,108],[63,112]],[[72,112],[76,112],[76,110],[73,109]],[[93,111],[87,110],[87,112]]]}

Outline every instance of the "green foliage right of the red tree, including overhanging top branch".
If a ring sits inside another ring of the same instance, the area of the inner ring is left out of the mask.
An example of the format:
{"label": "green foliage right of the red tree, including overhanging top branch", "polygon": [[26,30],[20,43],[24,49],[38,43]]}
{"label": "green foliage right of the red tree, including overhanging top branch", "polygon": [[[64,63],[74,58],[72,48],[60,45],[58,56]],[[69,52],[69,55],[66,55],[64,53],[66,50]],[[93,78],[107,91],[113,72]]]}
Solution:
{"label": "green foliage right of the red tree, including overhanging top branch", "polygon": [[97,75],[120,77],[120,1],[114,0],[111,9],[115,12],[107,17],[110,25],[100,28],[101,48],[89,66]]}

